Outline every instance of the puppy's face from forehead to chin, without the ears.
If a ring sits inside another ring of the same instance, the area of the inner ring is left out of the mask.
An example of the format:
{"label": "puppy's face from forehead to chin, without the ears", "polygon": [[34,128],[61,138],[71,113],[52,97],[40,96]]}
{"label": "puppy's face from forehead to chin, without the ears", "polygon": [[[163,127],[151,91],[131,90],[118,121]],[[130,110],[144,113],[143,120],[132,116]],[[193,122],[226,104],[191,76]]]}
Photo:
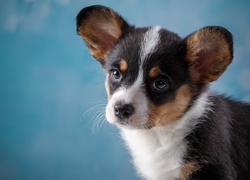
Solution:
{"label": "puppy's face from forehead to chin, without the ears", "polygon": [[183,95],[189,93],[184,56],[181,38],[160,27],[136,29],[125,36],[105,64],[108,121],[149,128],[180,117],[189,103]]}

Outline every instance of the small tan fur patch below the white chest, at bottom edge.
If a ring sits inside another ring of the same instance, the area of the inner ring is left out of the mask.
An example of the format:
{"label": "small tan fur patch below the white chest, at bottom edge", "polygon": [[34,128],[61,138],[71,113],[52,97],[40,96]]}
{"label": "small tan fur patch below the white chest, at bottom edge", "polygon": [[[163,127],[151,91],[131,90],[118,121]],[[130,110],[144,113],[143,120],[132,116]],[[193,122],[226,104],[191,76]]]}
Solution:
{"label": "small tan fur patch below the white chest, at bottom edge", "polygon": [[198,165],[194,161],[184,164],[181,168],[179,180],[188,180],[190,175],[197,170],[198,170]]}

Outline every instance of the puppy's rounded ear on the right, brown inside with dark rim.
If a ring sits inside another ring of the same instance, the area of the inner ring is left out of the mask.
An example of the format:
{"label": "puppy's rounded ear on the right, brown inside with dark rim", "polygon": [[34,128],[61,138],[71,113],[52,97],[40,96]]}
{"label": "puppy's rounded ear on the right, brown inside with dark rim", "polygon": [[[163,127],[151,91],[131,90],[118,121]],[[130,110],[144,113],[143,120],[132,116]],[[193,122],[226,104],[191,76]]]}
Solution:
{"label": "puppy's rounded ear on the right, brown inside with dark rim", "polygon": [[191,78],[196,83],[218,79],[233,59],[233,38],[223,27],[204,27],[184,41]]}

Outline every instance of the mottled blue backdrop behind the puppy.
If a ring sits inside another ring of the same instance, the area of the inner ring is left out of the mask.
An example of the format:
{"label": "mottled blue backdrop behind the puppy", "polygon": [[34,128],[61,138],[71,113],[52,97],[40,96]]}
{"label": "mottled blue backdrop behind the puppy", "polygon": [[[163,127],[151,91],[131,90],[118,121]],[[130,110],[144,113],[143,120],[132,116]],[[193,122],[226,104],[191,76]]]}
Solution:
{"label": "mottled blue backdrop behind the puppy", "polygon": [[105,121],[101,66],[76,35],[76,14],[92,4],[182,37],[226,27],[235,58],[212,88],[250,100],[250,1],[0,0],[0,179],[138,179]]}

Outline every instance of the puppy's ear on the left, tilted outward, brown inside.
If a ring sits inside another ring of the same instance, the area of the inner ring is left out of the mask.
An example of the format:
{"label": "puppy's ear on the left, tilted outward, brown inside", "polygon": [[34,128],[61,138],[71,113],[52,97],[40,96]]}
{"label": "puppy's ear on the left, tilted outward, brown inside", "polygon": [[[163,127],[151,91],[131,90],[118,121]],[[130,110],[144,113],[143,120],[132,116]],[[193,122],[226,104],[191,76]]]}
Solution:
{"label": "puppy's ear on the left, tilted outward, brown inside", "polygon": [[77,34],[102,65],[105,56],[128,28],[127,22],[112,9],[94,5],[83,8],[76,17]]}

